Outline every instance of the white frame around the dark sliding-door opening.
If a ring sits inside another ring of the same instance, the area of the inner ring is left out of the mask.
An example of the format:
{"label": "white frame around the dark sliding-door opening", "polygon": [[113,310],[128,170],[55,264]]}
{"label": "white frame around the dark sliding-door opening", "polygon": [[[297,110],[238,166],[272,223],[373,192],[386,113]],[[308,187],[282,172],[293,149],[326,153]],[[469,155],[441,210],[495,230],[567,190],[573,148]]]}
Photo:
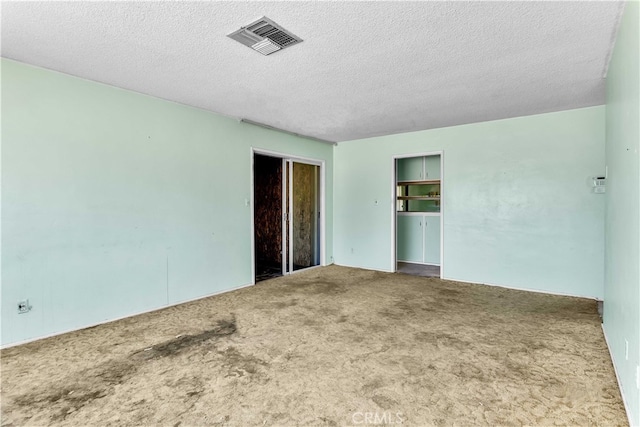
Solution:
{"label": "white frame around the dark sliding-door opening", "polygon": [[[313,165],[313,166],[318,166],[320,167],[320,265],[324,266],[327,265],[326,264],[326,257],[325,257],[325,252],[326,252],[326,168],[325,168],[325,161],[324,160],[320,160],[320,159],[314,159],[314,158],[310,158],[310,157],[302,157],[302,156],[294,156],[291,154],[286,154],[286,153],[281,153],[278,151],[271,151],[271,150],[265,150],[262,148],[256,148],[256,147],[251,147],[251,162],[250,162],[250,201],[249,201],[249,206],[250,206],[250,211],[251,211],[251,284],[255,285],[256,283],[256,242],[255,242],[255,214],[254,214],[254,202],[255,202],[255,189],[254,189],[254,160],[255,160],[255,155],[259,154],[259,155],[264,155],[264,156],[269,156],[269,157],[275,157],[275,158],[279,158],[283,160],[283,171],[282,171],[282,176],[283,178],[285,177],[285,162],[287,161],[291,161],[291,162],[297,162],[297,163],[305,163],[308,165]],[[290,180],[290,182],[292,183],[293,180]],[[287,185],[286,183],[286,179],[283,179],[282,181],[282,185]],[[291,188],[289,189],[291,190]],[[283,192],[284,193],[284,192]],[[288,194],[290,197],[293,197],[292,195],[292,191],[288,191]],[[284,199],[283,196],[283,206],[285,204],[286,200]],[[289,202],[291,203],[292,200],[290,199]],[[290,205],[291,208],[292,205]],[[284,216],[284,210],[283,210],[283,216]],[[293,228],[293,222],[289,221],[289,230],[292,233],[292,228]],[[284,224],[282,227],[282,233],[283,233],[283,242],[284,242],[284,237],[285,237],[285,230],[284,230]],[[291,234],[289,234],[291,235]],[[285,243],[286,244],[286,243]],[[293,256],[293,253],[289,254],[291,251],[287,250],[288,255],[290,257]],[[290,258],[291,259],[291,258]],[[283,259],[283,264],[284,264],[284,259]],[[293,265],[293,263],[291,262],[289,264],[289,266],[291,267]],[[283,265],[284,267],[284,265]],[[313,267],[309,267],[309,268],[313,268]],[[285,268],[283,268],[283,271],[285,270]],[[297,270],[297,271],[304,271],[307,270],[306,268],[301,269],[301,270]],[[297,272],[296,271],[296,272]],[[293,271],[288,272],[287,274],[291,274],[291,273],[295,273]]]}

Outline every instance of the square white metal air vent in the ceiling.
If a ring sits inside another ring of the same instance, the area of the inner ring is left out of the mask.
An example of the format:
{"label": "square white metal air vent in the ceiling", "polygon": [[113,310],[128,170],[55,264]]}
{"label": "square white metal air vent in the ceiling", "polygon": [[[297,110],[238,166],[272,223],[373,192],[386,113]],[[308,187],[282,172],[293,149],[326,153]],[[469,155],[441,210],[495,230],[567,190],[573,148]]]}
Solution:
{"label": "square white metal air vent in the ceiling", "polygon": [[227,37],[231,37],[263,55],[272,54],[302,41],[300,37],[285,30],[265,16],[233,33],[227,34]]}

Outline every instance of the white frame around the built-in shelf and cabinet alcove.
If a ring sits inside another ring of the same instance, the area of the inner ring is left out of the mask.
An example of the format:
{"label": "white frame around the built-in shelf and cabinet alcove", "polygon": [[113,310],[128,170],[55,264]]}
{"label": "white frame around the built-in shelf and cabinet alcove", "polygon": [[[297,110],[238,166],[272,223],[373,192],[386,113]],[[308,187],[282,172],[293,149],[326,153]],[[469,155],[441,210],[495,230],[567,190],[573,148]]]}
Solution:
{"label": "white frame around the built-in shelf and cabinet alcove", "polygon": [[[444,271],[444,151],[428,151],[423,153],[412,154],[398,154],[391,159],[391,271],[398,271],[398,254],[397,254],[397,238],[398,238],[398,186],[396,170],[398,159],[407,159],[410,157],[425,157],[425,156],[440,156],[440,278],[442,278],[442,272]],[[422,245],[424,251],[424,243]]]}

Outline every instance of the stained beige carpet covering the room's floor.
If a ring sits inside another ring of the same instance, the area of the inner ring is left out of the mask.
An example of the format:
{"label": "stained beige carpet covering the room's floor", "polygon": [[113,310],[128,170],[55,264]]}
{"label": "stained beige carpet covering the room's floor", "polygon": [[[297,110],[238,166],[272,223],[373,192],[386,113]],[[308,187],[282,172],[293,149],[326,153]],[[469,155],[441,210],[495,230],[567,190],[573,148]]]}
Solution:
{"label": "stained beige carpet covering the room's floor", "polygon": [[626,425],[596,303],[330,266],[6,349],[9,425]]}

